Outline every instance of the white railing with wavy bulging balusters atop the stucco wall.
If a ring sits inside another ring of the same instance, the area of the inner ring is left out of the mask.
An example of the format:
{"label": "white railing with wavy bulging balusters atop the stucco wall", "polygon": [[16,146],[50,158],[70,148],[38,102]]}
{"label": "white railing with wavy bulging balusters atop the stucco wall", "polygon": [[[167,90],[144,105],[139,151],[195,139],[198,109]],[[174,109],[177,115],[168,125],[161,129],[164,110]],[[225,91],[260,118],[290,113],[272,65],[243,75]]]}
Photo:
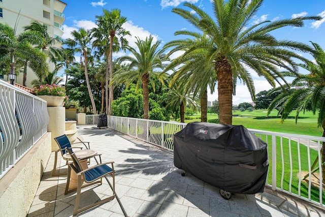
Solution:
{"label": "white railing with wavy bulging balusters atop the stucco wall", "polygon": [[47,103],[0,80],[0,178],[47,132]]}

